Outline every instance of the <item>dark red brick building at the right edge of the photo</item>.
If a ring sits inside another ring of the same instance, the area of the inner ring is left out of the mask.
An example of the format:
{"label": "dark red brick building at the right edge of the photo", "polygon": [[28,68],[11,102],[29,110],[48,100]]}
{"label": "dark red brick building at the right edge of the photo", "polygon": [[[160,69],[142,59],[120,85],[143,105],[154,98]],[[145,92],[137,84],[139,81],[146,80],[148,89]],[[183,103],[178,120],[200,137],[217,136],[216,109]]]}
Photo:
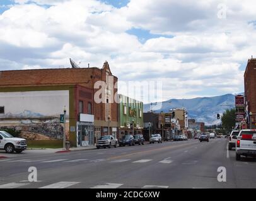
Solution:
{"label": "dark red brick building at the right edge of the photo", "polygon": [[[245,104],[247,106],[248,128],[256,128],[256,58],[248,60],[244,74]],[[250,116],[252,112],[252,116]]]}

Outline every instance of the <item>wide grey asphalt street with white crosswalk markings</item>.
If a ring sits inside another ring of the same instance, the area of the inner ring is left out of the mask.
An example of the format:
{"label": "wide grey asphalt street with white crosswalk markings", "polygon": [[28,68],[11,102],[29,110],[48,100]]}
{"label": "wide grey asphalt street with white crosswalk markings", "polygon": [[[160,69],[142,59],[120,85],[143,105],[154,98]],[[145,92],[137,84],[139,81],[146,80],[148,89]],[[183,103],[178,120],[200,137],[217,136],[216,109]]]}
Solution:
{"label": "wide grey asphalt street with white crosswalk markings", "polygon": [[[0,188],[256,188],[256,160],[235,160],[227,139],[16,155],[0,159]],[[28,182],[28,168],[38,182]],[[218,168],[226,182],[218,182]]]}

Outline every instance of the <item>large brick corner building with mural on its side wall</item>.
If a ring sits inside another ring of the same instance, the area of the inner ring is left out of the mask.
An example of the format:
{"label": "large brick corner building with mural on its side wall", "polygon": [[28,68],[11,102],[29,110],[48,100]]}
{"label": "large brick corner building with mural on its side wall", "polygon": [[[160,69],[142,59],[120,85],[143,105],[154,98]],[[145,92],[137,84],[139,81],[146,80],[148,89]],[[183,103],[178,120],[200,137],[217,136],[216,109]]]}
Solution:
{"label": "large brick corner building with mural on its side wall", "polygon": [[1,71],[0,128],[18,129],[31,143],[40,139],[40,144],[61,144],[64,125],[59,115],[66,106],[66,136],[71,144],[93,144],[108,134],[108,128],[110,134],[117,134],[116,82],[107,62],[102,68]]}

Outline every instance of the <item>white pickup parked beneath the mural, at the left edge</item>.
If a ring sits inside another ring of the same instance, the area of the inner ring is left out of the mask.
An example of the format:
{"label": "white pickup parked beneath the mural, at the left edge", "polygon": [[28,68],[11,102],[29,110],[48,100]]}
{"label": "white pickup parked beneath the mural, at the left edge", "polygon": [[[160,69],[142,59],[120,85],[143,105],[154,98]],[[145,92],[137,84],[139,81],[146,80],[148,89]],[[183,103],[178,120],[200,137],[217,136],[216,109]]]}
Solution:
{"label": "white pickup parked beneath the mural, at the left edge", "polygon": [[21,153],[26,149],[26,139],[15,138],[6,131],[0,131],[0,149],[4,149],[6,153]]}

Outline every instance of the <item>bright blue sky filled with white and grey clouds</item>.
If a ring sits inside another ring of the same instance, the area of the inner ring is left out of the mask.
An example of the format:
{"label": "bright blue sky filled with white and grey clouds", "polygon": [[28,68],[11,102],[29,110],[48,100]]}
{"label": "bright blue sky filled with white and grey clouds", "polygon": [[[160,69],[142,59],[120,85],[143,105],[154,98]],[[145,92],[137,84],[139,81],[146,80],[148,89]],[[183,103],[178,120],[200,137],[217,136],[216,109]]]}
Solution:
{"label": "bright blue sky filled with white and grey clouds", "polygon": [[0,0],[0,70],[67,68],[69,58],[102,67],[107,60],[119,81],[161,82],[163,100],[243,92],[256,50],[254,4]]}

